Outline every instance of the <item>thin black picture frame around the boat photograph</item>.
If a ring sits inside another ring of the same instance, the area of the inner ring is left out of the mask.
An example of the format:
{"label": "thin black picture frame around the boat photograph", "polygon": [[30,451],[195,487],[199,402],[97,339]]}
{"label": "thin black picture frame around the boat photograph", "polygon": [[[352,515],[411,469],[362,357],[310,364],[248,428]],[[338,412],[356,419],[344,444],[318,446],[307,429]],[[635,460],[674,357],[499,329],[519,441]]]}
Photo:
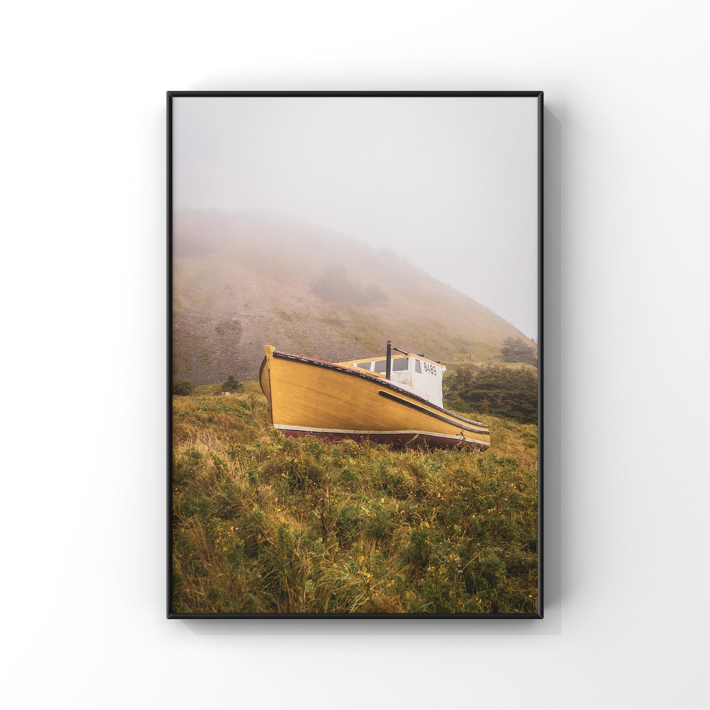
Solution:
{"label": "thin black picture frame around the boat photograph", "polygon": [[[470,98],[536,98],[537,99],[537,318],[538,318],[538,407],[537,407],[537,613],[177,613],[173,610],[173,99],[182,97],[470,97]],[[214,92],[214,91],[168,91],[167,92],[167,204],[166,204],[166,618],[170,619],[324,619],[324,618],[445,618],[445,619],[542,619],[544,616],[544,526],[543,526],[543,378],[544,378],[544,323],[543,323],[543,109],[542,91],[500,92]]]}

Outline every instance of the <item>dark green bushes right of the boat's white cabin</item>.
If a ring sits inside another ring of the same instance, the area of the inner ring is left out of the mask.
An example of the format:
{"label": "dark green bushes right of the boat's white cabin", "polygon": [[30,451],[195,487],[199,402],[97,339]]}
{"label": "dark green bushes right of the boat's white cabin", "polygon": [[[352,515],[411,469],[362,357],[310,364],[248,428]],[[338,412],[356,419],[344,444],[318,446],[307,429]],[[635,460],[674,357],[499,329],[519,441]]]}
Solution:
{"label": "dark green bushes right of the boat's white cabin", "polygon": [[537,371],[531,367],[468,363],[447,366],[445,396],[454,409],[475,409],[528,424],[537,423]]}

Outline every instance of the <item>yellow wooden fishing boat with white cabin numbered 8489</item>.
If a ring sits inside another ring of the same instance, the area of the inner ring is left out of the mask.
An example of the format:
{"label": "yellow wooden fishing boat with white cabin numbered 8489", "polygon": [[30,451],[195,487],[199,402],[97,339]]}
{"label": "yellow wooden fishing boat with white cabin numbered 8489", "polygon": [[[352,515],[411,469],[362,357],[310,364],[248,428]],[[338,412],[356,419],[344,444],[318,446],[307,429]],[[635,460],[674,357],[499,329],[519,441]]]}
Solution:
{"label": "yellow wooden fishing boat with white cabin numbered 8489", "polygon": [[[392,354],[392,351],[398,355]],[[446,367],[387,344],[387,355],[329,363],[265,348],[259,371],[271,422],[287,437],[488,449],[490,432],[443,408]]]}

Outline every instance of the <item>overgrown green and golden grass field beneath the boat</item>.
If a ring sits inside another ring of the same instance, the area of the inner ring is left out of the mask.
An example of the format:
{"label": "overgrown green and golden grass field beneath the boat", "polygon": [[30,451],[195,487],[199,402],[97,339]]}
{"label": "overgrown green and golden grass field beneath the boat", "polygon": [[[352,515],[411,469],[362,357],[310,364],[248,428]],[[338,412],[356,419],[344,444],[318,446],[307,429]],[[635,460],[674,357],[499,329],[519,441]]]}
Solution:
{"label": "overgrown green and golden grass field beneath the boat", "polygon": [[537,427],[491,449],[285,439],[258,383],[173,398],[177,613],[535,613]]}

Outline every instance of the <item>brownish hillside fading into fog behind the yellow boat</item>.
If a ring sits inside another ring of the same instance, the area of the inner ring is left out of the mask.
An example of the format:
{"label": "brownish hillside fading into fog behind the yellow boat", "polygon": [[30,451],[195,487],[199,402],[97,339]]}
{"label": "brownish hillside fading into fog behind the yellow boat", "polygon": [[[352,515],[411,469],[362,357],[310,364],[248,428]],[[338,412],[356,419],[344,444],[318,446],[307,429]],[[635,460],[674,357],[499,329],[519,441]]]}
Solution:
{"label": "brownish hillside fading into fog behind the yellow boat", "polygon": [[[405,234],[398,251],[408,251]],[[391,340],[435,360],[475,362],[496,360],[507,337],[532,344],[392,251],[265,215],[173,216],[175,378],[255,380],[266,344],[342,361],[383,355]]]}

